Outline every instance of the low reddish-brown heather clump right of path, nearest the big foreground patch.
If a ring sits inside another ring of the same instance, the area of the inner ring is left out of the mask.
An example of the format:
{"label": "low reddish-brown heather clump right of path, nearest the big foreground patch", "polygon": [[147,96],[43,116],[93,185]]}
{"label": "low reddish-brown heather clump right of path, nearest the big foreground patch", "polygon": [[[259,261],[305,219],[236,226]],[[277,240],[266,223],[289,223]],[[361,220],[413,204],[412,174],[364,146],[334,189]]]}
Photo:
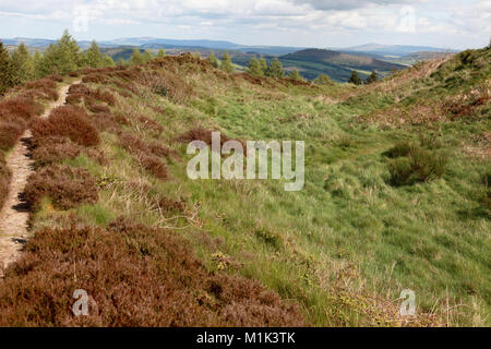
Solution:
{"label": "low reddish-brown heather clump right of path, nearest the big foreground patch", "polygon": [[96,180],[83,168],[52,165],[29,176],[25,188],[25,200],[36,205],[44,197],[52,200],[56,207],[73,208],[77,204],[96,203]]}

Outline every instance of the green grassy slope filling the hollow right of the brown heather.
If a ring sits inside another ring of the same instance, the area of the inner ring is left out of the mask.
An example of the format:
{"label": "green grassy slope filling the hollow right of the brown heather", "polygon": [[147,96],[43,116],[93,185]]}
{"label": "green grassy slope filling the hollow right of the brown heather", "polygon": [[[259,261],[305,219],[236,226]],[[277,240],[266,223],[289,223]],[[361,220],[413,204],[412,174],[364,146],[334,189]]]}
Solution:
{"label": "green grassy slope filling the hollow right of the brown heather", "polygon": [[[458,76],[476,77],[455,93],[489,77],[487,68],[455,65]],[[140,96],[118,97],[111,110],[133,119],[144,115],[164,127],[159,134],[133,121],[125,129],[179,152],[182,161],[167,161],[170,179],[142,170],[118,137],[104,132],[108,164],[85,155],[67,160],[105,183],[98,203],[60,212],[45,201],[34,229],[57,225],[69,213],[103,227],[123,214],[171,228],[192,242],[209,269],[261,280],[298,301],[312,325],[398,325],[395,299],[407,288],[416,291],[420,313],[438,313],[418,317],[417,325],[489,325],[491,229],[480,179],[491,168],[462,152],[472,135],[489,130],[489,119],[386,128],[370,118],[387,108],[411,110],[429,95],[445,96],[438,75],[406,79],[409,71],[374,87],[311,88],[253,85],[193,64],[179,68],[179,74],[192,86],[189,99],[172,100],[142,87]],[[185,145],[175,139],[197,124],[241,140],[304,140],[303,191],[285,192],[278,181],[189,180]],[[392,186],[384,153],[421,132],[438,133],[452,155],[445,176]],[[149,197],[156,193],[183,196],[187,212],[169,215],[155,208]]]}

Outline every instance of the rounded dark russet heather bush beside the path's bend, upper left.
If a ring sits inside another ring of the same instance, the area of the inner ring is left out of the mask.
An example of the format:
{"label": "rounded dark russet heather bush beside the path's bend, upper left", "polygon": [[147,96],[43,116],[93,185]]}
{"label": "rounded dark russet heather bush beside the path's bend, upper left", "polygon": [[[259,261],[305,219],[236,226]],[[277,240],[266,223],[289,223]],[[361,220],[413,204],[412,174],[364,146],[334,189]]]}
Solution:
{"label": "rounded dark russet heather bush beside the path's bend, upper left", "polygon": [[32,131],[36,137],[67,136],[84,146],[95,146],[100,142],[99,133],[85,110],[74,106],[58,107],[48,119],[36,119]]}

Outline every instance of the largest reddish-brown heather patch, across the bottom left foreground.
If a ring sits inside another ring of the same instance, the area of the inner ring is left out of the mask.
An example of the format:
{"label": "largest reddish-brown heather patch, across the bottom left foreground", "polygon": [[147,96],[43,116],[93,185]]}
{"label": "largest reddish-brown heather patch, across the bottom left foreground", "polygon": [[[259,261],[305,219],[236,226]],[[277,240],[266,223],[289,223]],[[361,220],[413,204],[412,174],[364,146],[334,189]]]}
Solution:
{"label": "largest reddish-brown heather patch, across the bottom left foreground", "polygon": [[[74,277],[75,276],[75,277]],[[74,316],[75,289],[89,296]],[[172,231],[118,219],[108,230],[44,229],[0,289],[2,326],[301,326],[259,282],[208,273]]]}

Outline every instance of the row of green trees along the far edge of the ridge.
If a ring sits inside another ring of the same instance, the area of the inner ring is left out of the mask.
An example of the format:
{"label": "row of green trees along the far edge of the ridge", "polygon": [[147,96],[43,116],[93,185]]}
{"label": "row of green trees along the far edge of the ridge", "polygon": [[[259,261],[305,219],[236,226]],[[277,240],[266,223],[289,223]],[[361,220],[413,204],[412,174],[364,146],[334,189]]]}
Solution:
{"label": "row of green trees along the far edge of the ridge", "polygon": [[[160,49],[156,55],[157,58],[165,57],[166,52]],[[129,61],[120,58],[117,65],[143,64],[155,56],[151,50],[135,48]],[[227,73],[233,73],[236,68],[231,62],[230,56],[224,51],[221,60],[219,60],[215,52],[211,51],[206,60],[216,69],[220,69]],[[85,67],[105,68],[116,65],[112,58],[104,55],[97,43],[92,41],[87,50],[83,51],[76,44],[75,39],[68,31],[64,31],[61,38],[57,43],[49,45],[49,47],[40,53],[36,51],[31,55],[27,47],[21,44],[10,55],[0,41],[0,95],[4,94],[9,88],[22,85],[27,81],[40,79],[51,74],[65,75],[73,71]],[[270,63],[261,56],[259,59],[253,57],[248,64],[247,73],[252,76],[266,77],[289,77],[295,80],[303,80],[298,70],[291,70],[286,74],[282,62],[278,58],[274,58]],[[375,72],[368,77],[367,84],[376,82],[379,80]],[[362,84],[356,71],[352,71],[349,83],[360,85]],[[328,85],[332,84],[327,75],[320,75],[314,83]]]}

